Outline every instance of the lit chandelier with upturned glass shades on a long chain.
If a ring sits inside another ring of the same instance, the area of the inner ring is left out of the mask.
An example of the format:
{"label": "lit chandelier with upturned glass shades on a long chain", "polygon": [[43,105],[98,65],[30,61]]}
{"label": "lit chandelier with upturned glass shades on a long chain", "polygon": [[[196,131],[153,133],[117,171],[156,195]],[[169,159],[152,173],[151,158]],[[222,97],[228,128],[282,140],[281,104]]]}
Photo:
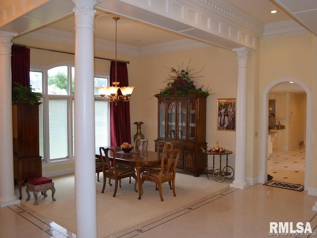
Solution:
{"label": "lit chandelier with upturned glass shades on a long chain", "polygon": [[[114,73],[115,78],[114,82],[112,82],[113,86],[108,87],[99,87],[97,88],[98,93],[101,95],[103,101],[113,101],[115,105],[118,104],[120,100],[129,101],[130,96],[134,90],[134,87],[119,87],[120,82],[117,81],[117,21],[120,19],[119,17],[112,17],[115,20],[115,61],[114,61]],[[118,95],[118,90],[120,89],[122,95]]]}

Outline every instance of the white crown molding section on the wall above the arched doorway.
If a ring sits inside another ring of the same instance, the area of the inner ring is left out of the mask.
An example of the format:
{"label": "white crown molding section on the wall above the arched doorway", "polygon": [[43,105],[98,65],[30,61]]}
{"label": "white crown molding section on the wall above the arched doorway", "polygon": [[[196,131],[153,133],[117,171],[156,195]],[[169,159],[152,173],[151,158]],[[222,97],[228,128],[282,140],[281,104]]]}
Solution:
{"label": "white crown molding section on the wall above the arched doorway", "polygon": [[294,20],[280,21],[265,24],[262,39],[295,34],[308,33],[309,31]]}

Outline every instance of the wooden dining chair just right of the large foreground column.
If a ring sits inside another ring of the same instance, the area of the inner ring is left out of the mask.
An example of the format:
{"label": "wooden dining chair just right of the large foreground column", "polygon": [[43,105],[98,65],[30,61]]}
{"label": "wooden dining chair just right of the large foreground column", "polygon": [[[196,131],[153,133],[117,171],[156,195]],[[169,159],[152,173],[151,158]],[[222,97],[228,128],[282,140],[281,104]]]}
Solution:
{"label": "wooden dining chair just right of the large foreground column", "polygon": [[[104,193],[105,191],[106,178],[108,178],[109,180],[113,179],[115,181],[114,192],[113,192],[113,197],[115,197],[115,194],[118,189],[118,183],[119,183],[119,187],[121,188],[121,179],[128,178],[128,177],[134,178],[135,180],[134,190],[137,192],[138,191],[136,190],[137,177],[135,174],[135,170],[129,167],[125,167],[123,165],[119,165],[117,163],[117,160],[115,159],[115,156],[114,156],[115,153],[112,148],[100,147],[99,151],[100,151],[100,157],[103,163],[103,174],[104,174],[104,186],[103,186],[102,193]],[[112,154],[112,157],[113,157],[111,161],[112,164],[110,162],[109,152]],[[109,185],[112,186],[110,184],[110,181],[109,181]]]}

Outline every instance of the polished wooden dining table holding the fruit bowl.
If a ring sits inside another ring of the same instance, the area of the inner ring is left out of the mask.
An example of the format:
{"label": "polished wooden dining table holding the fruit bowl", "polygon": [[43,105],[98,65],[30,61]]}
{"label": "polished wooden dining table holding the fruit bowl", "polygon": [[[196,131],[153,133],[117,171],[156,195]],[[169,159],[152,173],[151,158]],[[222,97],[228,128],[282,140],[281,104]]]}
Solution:
{"label": "polished wooden dining table holding the fruit bowl", "polygon": [[[160,162],[160,156],[158,152],[147,151],[147,150],[137,150],[132,149],[131,152],[123,152],[120,146],[105,146],[105,148],[112,148],[114,150],[114,155],[109,153],[109,157],[115,159],[121,163],[134,166],[137,175],[137,183],[139,187],[139,197],[143,194],[142,181],[141,181],[141,168],[145,165],[153,166]],[[112,156],[112,157],[111,157]],[[96,158],[100,158],[99,147],[96,148]]]}

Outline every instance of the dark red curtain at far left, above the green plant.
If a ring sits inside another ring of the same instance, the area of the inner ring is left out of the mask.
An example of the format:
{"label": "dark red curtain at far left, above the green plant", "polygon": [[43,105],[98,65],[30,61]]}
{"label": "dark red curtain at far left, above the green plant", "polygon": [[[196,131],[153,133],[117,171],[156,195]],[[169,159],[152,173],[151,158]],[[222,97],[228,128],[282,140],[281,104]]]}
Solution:
{"label": "dark red curtain at far left, above the green plant", "polygon": [[15,83],[30,86],[30,48],[12,45],[11,48],[11,78],[12,88]]}

